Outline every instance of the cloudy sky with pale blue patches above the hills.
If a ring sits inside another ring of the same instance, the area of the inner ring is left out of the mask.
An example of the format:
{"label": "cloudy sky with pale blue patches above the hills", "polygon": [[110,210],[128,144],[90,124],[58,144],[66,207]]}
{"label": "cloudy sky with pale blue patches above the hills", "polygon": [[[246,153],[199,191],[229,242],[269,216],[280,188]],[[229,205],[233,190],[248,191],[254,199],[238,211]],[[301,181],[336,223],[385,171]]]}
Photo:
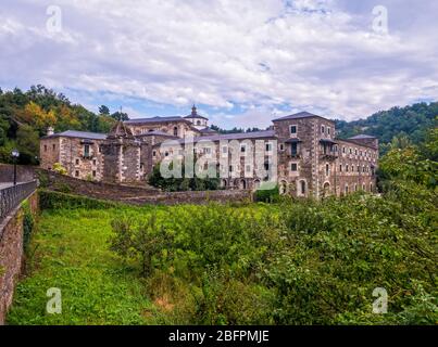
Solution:
{"label": "cloudy sky with pale blue patches above the hills", "polygon": [[351,120],[438,100],[437,16],[436,0],[1,0],[0,87],[132,118],[197,103],[225,128]]}

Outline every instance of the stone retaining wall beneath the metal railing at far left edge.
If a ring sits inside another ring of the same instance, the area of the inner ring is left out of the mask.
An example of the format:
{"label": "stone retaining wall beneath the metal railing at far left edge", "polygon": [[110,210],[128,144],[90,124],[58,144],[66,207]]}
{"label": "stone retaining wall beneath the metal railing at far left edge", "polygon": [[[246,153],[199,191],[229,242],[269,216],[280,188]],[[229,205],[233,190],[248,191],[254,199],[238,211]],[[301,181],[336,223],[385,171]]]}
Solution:
{"label": "stone retaining wall beneath the metal railing at far left edge", "polygon": [[[27,201],[30,210],[38,213],[38,194]],[[23,204],[23,203],[22,203]],[[0,224],[0,325],[12,304],[14,288],[23,268],[23,218],[22,205],[15,208]]]}

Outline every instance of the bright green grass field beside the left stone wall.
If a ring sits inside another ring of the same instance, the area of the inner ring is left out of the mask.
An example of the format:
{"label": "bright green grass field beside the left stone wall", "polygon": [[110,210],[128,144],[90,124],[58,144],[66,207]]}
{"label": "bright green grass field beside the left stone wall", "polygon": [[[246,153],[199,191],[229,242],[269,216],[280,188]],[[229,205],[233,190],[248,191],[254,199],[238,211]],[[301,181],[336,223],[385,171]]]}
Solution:
{"label": "bright green grass field beside the left stone wall", "polygon": [[[42,213],[29,247],[28,275],[16,288],[9,324],[154,323],[145,314],[153,307],[141,278],[109,250],[110,221],[117,214]],[[50,287],[61,290],[62,314],[46,313]]]}

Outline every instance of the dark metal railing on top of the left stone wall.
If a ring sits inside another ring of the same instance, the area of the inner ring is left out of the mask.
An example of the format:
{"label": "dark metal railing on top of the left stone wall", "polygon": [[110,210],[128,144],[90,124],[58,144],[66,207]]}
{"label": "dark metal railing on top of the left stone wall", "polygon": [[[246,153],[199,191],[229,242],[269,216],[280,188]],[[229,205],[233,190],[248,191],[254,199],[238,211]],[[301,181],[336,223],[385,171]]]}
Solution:
{"label": "dark metal railing on top of the left stone wall", "polygon": [[0,223],[18,204],[37,189],[37,181],[0,189]]}

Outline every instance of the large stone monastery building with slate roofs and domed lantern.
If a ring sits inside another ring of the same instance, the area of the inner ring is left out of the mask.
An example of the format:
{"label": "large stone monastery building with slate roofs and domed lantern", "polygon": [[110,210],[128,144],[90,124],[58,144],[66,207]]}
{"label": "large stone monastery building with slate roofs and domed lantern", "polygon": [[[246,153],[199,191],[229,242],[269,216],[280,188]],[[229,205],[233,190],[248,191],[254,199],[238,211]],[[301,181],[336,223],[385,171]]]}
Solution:
{"label": "large stone monastery building with slate roofs and domed lantern", "polygon": [[[296,196],[339,196],[376,187],[378,140],[365,134],[337,139],[327,118],[301,112],[274,119],[268,130],[230,134],[216,133],[208,121],[193,106],[185,117],[118,121],[108,134],[49,129],[40,141],[41,167],[50,170],[59,163],[78,179],[138,183],[154,165],[184,156],[190,145],[195,156],[216,160],[226,189],[258,189],[266,180],[254,174],[258,166],[274,169],[280,192]],[[236,144],[238,160],[229,162]]]}

